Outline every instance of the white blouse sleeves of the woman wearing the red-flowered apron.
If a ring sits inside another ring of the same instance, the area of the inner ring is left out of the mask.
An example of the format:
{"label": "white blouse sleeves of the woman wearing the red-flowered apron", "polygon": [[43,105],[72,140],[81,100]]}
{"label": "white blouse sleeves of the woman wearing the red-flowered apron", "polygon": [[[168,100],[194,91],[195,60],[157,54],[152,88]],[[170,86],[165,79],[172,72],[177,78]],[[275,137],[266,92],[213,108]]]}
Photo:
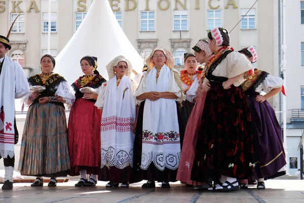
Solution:
{"label": "white blouse sleeves of the woman wearing the red-flowered apron", "polygon": [[[177,98],[174,99],[174,100],[178,101],[180,103],[181,100],[184,100],[184,94],[176,83],[176,80],[175,80],[175,77],[174,77],[174,72],[175,72],[176,75],[178,74],[179,78],[180,78],[180,73],[177,70],[170,70],[170,72],[171,72],[171,78],[170,78],[170,82],[169,82],[168,92],[174,93],[177,96]],[[137,105],[140,105],[141,101],[143,101],[143,100],[138,100],[138,99],[136,99],[136,97],[147,92],[145,83],[146,83],[146,77],[147,77],[148,72],[145,71],[142,74],[143,75],[142,75],[140,84],[139,84],[137,90],[134,93],[135,102],[136,102]],[[180,98],[183,98],[183,99],[180,99]]]}

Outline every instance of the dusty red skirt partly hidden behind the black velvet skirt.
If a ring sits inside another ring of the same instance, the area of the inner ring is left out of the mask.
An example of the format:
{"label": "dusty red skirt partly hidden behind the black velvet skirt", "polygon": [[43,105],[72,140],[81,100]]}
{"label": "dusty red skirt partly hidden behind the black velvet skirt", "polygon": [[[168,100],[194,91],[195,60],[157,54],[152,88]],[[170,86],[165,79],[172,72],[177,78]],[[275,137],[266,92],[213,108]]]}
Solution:
{"label": "dusty red skirt partly hidden behind the black velvet skirt", "polygon": [[176,180],[185,182],[189,185],[201,185],[201,182],[191,180],[191,170],[194,161],[195,148],[198,139],[198,131],[204,109],[205,99],[207,92],[202,92],[195,103],[195,106],[189,116],[183,146],[181,150],[181,157],[178,166]]}

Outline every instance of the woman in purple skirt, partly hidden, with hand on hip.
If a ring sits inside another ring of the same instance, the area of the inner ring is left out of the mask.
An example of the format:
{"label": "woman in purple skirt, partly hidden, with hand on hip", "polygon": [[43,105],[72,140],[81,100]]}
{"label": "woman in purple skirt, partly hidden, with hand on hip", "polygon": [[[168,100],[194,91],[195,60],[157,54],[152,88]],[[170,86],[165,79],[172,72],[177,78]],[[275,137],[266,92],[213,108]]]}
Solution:
{"label": "woman in purple skirt, partly hidden, with hand on hip", "polygon": [[[251,63],[256,62],[257,55],[252,46],[241,49]],[[257,189],[265,189],[264,178],[271,179],[286,174],[286,159],[283,147],[282,128],[277,120],[275,110],[267,99],[282,90],[283,79],[265,71],[254,70],[253,75],[245,74],[242,88],[247,97],[251,112],[251,130],[253,140],[254,180]],[[261,95],[264,91],[265,95]],[[282,91],[284,93],[284,91]]]}

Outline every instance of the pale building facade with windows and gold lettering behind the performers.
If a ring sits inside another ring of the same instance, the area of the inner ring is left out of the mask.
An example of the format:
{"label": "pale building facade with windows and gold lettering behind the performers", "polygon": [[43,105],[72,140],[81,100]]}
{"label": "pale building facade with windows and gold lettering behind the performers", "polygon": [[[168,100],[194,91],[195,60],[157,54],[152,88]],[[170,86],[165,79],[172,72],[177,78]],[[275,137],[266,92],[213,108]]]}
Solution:
{"label": "pale building facade with windows and gold lettering behind the performers", "polygon": [[[231,46],[235,50],[254,46],[258,55],[254,65],[272,75],[280,75],[280,0],[108,2],[113,15],[142,58],[149,55],[153,48],[164,47],[172,52],[176,67],[180,68],[183,65],[183,53],[191,52],[199,39],[207,37],[210,29],[221,26],[227,30],[233,29]],[[91,4],[92,0],[51,0],[51,55],[56,57],[64,48]],[[28,77],[40,73],[40,58],[48,53],[48,10],[48,0],[0,0],[0,35],[6,35],[12,21],[20,13],[12,30],[12,50],[8,55],[22,65]],[[299,168],[299,153],[296,149],[304,128],[304,111],[301,111],[304,109],[304,1],[286,1],[286,22],[286,29],[290,30],[286,32],[287,118],[290,123],[286,133],[290,174],[293,175]],[[270,99],[276,111],[280,110],[280,101],[279,96]]]}

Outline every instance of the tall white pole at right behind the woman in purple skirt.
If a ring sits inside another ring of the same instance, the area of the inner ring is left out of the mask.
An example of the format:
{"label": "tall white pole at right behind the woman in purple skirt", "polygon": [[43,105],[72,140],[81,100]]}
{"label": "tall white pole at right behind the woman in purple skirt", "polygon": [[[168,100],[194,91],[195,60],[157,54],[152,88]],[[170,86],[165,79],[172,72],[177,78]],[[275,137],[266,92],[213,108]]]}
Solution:
{"label": "tall white pole at right behind the woman in purple skirt", "polygon": [[[283,30],[283,41],[282,41],[282,52],[283,52],[283,57],[281,61],[281,72],[283,73],[284,79],[283,79],[283,85],[286,89],[286,5],[285,5],[286,0],[282,0],[282,17],[283,17],[283,22],[282,22],[282,30]],[[286,162],[287,162],[287,167],[286,167],[286,175],[289,175],[289,157],[288,157],[288,148],[287,148],[287,128],[286,128],[286,121],[287,121],[287,104],[286,104],[286,96],[283,96],[283,139],[284,139],[284,151],[286,155]]]}

